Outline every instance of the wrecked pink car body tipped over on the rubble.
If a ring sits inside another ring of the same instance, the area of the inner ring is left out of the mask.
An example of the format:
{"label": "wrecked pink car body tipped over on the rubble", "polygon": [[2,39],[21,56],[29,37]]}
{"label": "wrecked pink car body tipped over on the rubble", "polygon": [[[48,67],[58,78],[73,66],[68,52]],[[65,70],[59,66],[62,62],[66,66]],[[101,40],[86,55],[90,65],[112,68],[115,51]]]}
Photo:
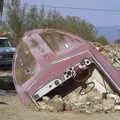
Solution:
{"label": "wrecked pink car body tipped over on the rubble", "polygon": [[87,83],[82,78],[95,67],[106,77],[112,89],[120,93],[120,72],[95,46],[59,30],[32,30],[25,33],[17,47],[13,65],[14,84],[24,104],[30,101],[37,104],[46,94],[64,94],[73,89],[75,81],[82,86],[81,94],[88,85],[93,88],[93,82]]}

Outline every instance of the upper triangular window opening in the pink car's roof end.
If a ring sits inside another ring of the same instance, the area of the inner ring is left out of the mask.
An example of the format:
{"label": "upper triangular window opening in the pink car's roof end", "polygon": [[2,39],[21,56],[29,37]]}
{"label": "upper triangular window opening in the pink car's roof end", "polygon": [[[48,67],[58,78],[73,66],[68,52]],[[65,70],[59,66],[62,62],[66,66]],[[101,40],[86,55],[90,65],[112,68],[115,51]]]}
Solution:
{"label": "upper triangular window opening in the pink car's roof end", "polygon": [[59,32],[44,32],[42,38],[47,45],[58,55],[63,52],[69,51],[79,45],[80,41]]}

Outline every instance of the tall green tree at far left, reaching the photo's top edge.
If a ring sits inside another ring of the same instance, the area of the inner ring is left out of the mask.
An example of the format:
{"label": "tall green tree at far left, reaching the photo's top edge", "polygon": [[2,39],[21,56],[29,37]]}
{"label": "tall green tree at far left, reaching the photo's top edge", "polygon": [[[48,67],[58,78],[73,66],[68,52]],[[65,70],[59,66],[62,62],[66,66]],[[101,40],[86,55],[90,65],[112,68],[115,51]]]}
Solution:
{"label": "tall green tree at far left, reaching the photo's top edge", "polygon": [[15,39],[13,44],[15,45],[19,43],[20,38],[26,30],[24,22],[26,16],[25,13],[26,5],[21,8],[20,0],[14,0],[12,5],[8,5],[6,27],[12,33],[12,36]]}

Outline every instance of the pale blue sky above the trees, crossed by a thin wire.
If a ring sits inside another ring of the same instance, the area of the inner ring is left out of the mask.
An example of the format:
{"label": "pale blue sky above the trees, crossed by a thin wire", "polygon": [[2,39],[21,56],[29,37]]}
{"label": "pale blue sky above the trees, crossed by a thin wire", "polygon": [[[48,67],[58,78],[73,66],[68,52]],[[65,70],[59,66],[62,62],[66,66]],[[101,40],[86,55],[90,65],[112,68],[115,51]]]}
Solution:
{"label": "pale blue sky above the trees, crossed by a thin wire", "polygon": [[[82,8],[95,8],[95,9],[119,9],[120,0],[21,0],[23,3],[29,5],[41,4],[52,6],[65,6],[65,7],[82,7]],[[95,26],[120,26],[120,12],[95,12],[95,11],[81,11],[81,10],[68,10],[57,9],[63,15],[79,16],[82,19],[94,24]]]}

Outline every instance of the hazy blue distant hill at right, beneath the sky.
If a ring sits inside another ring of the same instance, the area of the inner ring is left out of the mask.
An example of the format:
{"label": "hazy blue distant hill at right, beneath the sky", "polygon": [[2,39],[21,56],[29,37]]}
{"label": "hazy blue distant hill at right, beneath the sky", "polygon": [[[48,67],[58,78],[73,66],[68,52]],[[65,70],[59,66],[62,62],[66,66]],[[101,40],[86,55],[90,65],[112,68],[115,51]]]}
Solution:
{"label": "hazy blue distant hill at right, beneath the sky", "polygon": [[104,35],[110,42],[120,37],[120,26],[96,27],[99,35]]}

